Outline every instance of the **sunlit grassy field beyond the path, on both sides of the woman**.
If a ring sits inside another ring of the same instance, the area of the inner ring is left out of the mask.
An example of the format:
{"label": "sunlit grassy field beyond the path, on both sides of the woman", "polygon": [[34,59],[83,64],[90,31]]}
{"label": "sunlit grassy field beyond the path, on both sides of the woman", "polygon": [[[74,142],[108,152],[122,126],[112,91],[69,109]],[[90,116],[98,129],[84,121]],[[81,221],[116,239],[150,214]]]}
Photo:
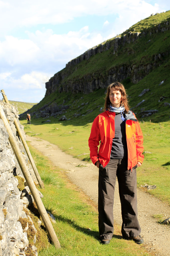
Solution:
{"label": "sunlit grassy field beyond the path, on both sides of the woman", "polygon": [[[54,121],[54,120],[53,120]],[[86,125],[71,125],[69,121],[62,123],[41,123],[40,120],[32,120],[31,125],[21,121],[24,130],[29,136],[36,136],[56,144],[59,148],[74,157],[84,161],[90,161],[88,137],[92,123]],[[170,122],[151,123],[140,122],[144,136],[145,159],[137,169],[137,184],[156,185],[156,189],[148,190],[148,193],[158,197],[170,205]],[[149,153],[147,153],[149,152]]]}

